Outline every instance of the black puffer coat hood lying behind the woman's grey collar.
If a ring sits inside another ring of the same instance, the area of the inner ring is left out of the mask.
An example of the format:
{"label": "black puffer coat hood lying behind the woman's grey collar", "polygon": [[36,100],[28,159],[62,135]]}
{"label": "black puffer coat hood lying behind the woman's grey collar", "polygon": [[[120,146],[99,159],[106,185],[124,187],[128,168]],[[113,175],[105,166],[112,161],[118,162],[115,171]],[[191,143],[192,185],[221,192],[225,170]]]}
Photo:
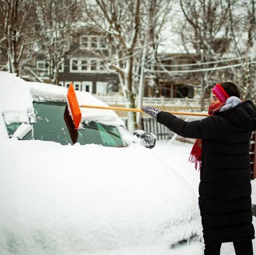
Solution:
{"label": "black puffer coat hood lying behind the woman's grey collar", "polygon": [[232,109],[219,112],[217,115],[225,117],[246,130],[256,129],[256,107],[251,100],[241,102]]}

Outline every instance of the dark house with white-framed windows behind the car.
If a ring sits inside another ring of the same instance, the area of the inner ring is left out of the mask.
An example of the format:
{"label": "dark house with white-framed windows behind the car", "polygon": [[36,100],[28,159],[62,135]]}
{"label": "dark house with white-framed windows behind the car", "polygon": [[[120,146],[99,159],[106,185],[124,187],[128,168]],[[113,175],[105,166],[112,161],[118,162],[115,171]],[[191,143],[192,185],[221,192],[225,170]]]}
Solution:
{"label": "dark house with white-framed windows behind the car", "polygon": [[[64,59],[58,69],[58,84],[68,87],[71,82],[76,90],[92,94],[105,95],[118,93],[119,79],[116,72],[106,70],[104,62],[93,52],[107,54],[106,40],[100,34],[80,35],[79,42],[70,45],[69,57]],[[50,68],[46,60],[37,58],[35,61],[35,76],[37,80],[49,81]]]}

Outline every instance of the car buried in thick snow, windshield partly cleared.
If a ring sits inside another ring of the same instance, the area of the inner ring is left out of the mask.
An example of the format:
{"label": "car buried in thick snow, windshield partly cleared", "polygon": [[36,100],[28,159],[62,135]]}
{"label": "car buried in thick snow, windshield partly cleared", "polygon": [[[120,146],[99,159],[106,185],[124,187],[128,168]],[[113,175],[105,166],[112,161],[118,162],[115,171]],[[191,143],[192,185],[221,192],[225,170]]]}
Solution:
{"label": "car buried in thick snow, windshield partly cleared", "polygon": [[201,244],[192,187],[141,145],[142,131],[88,108],[74,131],[67,88],[6,72],[0,81],[0,254],[164,255]]}

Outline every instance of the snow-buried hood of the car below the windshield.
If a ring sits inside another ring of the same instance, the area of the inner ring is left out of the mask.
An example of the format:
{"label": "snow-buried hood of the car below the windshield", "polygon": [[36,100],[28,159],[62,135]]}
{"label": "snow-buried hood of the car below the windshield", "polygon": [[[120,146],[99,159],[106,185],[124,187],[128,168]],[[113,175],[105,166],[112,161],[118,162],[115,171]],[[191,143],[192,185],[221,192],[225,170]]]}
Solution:
{"label": "snow-buried hood of the car below the windshield", "polygon": [[192,187],[149,149],[16,138],[2,146],[0,254],[168,250],[201,235]]}

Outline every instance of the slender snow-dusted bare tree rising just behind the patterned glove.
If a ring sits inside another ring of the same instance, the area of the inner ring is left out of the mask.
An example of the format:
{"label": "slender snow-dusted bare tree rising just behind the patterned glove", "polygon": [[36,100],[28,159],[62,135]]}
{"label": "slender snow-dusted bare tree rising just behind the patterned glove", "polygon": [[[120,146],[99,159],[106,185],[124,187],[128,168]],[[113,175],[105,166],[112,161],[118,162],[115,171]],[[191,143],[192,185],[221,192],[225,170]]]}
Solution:
{"label": "slender snow-dusted bare tree rising just behind the patterned glove", "polygon": [[[140,69],[138,83],[137,108],[141,108],[144,97],[145,82],[155,89],[159,95],[157,76],[154,74],[156,64],[156,54],[159,42],[163,42],[161,33],[166,24],[170,24],[171,0],[148,0],[145,2],[146,17],[142,21],[143,34],[140,35],[142,42],[140,45],[143,51],[136,58],[136,65]],[[137,113],[137,126],[142,129],[142,114]]]}

